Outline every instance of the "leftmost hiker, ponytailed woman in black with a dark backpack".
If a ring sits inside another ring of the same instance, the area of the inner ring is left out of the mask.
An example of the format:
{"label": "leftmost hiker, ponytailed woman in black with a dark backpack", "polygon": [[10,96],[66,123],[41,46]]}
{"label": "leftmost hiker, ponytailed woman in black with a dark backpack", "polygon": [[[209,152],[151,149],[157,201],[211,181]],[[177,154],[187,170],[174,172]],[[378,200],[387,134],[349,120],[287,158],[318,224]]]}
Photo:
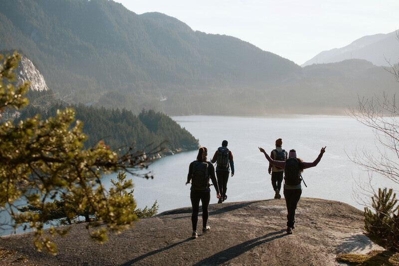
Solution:
{"label": "leftmost hiker, ponytailed woman in black with a dark backpack", "polygon": [[191,205],[193,206],[193,214],[191,216],[191,222],[193,225],[192,238],[198,238],[197,234],[197,222],[198,213],[200,211],[200,201],[202,203],[202,233],[205,234],[210,230],[210,227],[206,225],[208,220],[208,205],[210,201],[210,184],[209,177],[212,180],[212,184],[216,190],[216,197],[220,198],[219,189],[215,177],[215,168],[211,162],[206,160],[208,150],[205,147],[201,147],[198,150],[197,160],[193,161],[189,167],[189,174],[187,175],[187,184],[191,182],[190,199]]}

